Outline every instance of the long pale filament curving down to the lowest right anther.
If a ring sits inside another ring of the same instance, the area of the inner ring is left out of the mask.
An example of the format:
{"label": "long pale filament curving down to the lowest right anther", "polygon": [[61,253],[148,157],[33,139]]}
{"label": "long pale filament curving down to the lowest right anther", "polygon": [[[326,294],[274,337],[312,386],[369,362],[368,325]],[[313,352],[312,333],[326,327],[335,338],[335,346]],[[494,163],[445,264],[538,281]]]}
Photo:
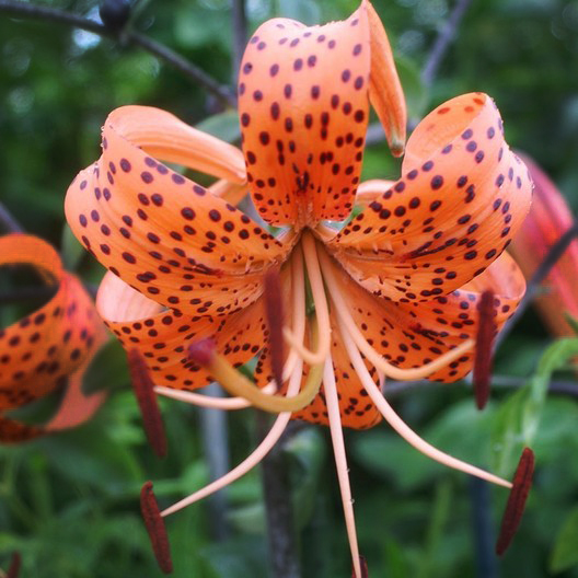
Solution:
{"label": "long pale filament curving down to the lowest right anther", "polygon": [[507,479],[502,479],[501,477],[490,474],[489,472],[486,472],[484,470],[481,470],[479,467],[476,467],[475,465],[469,464],[466,462],[462,462],[461,460],[458,460],[456,458],[448,455],[447,453],[443,453],[441,450],[438,450],[437,448],[428,443],[426,440],[421,439],[395,413],[395,411],[388,403],[385,397],[383,397],[378,385],[375,385],[375,383],[373,382],[373,379],[369,374],[366,363],[363,359],[361,358],[361,354],[359,352],[359,349],[356,347],[356,344],[351,335],[349,334],[345,324],[342,323],[340,319],[338,321],[338,325],[339,325],[339,331],[342,333],[344,346],[347,350],[347,354],[349,355],[349,360],[351,361],[354,369],[356,370],[359,379],[361,380],[361,383],[366,388],[366,391],[368,392],[369,396],[371,397],[371,400],[373,401],[373,403],[380,411],[381,415],[385,418],[385,420],[390,424],[390,426],[395,431],[397,431],[397,434],[403,439],[405,439],[405,441],[407,441],[411,446],[413,446],[419,452],[424,453],[428,458],[431,458],[431,460],[435,460],[436,462],[447,465],[448,467],[452,467],[453,470],[459,470],[466,474],[479,477],[482,479],[485,479],[486,482],[490,482],[498,486],[504,486],[507,488],[512,487],[512,484],[508,482]]}

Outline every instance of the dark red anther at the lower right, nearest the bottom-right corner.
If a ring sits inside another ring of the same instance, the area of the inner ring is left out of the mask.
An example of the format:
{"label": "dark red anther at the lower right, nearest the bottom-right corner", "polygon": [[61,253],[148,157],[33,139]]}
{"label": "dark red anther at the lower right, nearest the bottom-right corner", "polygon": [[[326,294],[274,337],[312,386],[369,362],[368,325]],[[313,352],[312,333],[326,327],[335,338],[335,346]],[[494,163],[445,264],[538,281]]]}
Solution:
{"label": "dark red anther at the lower right, nearest the bottom-right corner", "polygon": [[525,500],[532,486],[534,474],[534,452],[524,448],[516,474],[513,475],[512,488],[506,504],[506,510],[501,519],[501,528],[496,543],[496,554],[501,556],[510,545],[524,511]]}

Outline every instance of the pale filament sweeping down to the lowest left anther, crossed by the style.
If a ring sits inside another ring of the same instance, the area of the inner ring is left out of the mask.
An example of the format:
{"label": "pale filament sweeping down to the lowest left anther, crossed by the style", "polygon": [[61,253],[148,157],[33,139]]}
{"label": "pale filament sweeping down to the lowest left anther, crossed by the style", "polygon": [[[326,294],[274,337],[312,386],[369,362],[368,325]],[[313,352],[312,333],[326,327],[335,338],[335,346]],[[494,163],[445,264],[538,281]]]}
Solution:
{"label": "pale filament sweeping down to the lowest left anther, crossed by the style", "polygon": [[[302,361],[299,360],[293,370],[293,373],[291,374],[291,378],[289,379],[289,385],[287,388],[288,396],[294,395],[299,391],[299,385],[301,383],[301,377],[302,377],[302,370],[303,370],[303,365],[302,365]],[[228,486],[235,479],[239,479],[241,476],[246,474],[250,470],[255,467],[265,458],[265,455],[267,455],[267,453],[271,450],[271,448],[277,443],[279,438],[282,436],[282,432],[285,431],[285,428],[287,427],[287,424],[289,424],[290,419],[291,419],[290,412],[280,413],[275,419],[273,427],[270,428],[269,432],[265,436],[263,441],[255,448],[255,450],[243,462],[241,462],[236,467],[231,470],[228,474],[223,475],[219,479],[211,482],[204,488],[200,488],[197,492],[194,492],[190,496],[183,498],[181,501],[177,501],[170,508],[166,508],[165,510],[161,512],[161,516],[162,517],[170,516],[171,513],[174,513],[189,506],[190,504],[194,504],[195,501],[198,501],[207,496],[210,496],[215,492],[218,492],[219,489]]]}

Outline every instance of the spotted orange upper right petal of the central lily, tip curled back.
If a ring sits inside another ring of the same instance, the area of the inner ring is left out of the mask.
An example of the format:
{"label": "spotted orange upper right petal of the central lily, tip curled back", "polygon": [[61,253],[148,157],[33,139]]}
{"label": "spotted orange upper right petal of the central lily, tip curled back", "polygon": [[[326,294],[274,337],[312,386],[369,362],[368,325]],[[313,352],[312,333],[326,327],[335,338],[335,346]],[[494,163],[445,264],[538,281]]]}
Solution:
{"label": "spotted orange upper right petal of the central lily, tip curled back", "polygon": [[484,94],[430,113],[408,140],[403,177],[330,241],[347,271],[398,302],[448,294],[479,275],[530,207],[531,180],[501,128]]}

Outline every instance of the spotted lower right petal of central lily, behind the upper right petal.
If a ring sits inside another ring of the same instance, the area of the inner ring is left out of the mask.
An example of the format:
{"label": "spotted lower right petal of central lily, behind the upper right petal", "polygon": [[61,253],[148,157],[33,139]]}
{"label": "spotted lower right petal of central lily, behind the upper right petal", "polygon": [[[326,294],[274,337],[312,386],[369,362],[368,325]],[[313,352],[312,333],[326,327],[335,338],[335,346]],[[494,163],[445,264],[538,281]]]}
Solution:
{"label": "spotted lower right petal of central lily, behind the upper right petal", "polygon": [[[495,292],[498,330],[515,312],[525,290],[523,275],[507,253],[460,290],[429,301],[396,303],[377,298],[345,271],[340,284],[366,339],[400,368],[421,367],[466,339],[475,339],[477,304],[484,290]],[[455,381],[469,373],[472,365],[473,350],[429,379]]]}

